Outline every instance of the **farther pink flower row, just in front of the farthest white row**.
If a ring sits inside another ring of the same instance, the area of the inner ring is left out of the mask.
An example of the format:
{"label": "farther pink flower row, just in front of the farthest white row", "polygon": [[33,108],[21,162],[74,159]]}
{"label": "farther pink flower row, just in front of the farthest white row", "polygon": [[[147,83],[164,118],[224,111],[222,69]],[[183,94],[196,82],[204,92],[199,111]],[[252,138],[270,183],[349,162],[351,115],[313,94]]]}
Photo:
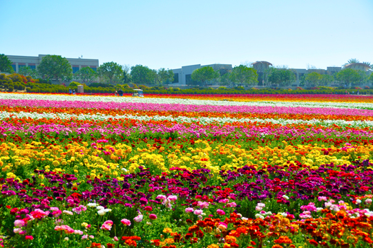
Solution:
{"label": "farther pink flower row, just in front of the farthest white row", "polygon": [[213,106],[184,104],[149,104],[135,102],[82,102],[1,99],[3,106],[30,106],[46,108],[93,108],[93,109],[130,109],[139,111],[180,111],[180,112],[227,112],[227,113],[278,113],[278,114],[315,114],[315,115],[363,115],[373,116],[372,110],[354,108],[306,108],[280,106]]}

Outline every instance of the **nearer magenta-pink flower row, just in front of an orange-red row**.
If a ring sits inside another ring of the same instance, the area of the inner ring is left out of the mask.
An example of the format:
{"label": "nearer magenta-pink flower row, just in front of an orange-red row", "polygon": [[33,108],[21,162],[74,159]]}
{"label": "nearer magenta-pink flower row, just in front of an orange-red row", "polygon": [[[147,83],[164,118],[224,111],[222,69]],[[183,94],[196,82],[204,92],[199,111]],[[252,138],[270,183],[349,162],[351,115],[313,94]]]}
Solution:
{"label": "nearer magenta-pink flower row, just in front of an orange-red row", "polygon": [[287,135],[298,136],[303,138],[310,138],[317,135],[325,137],[347,137],[350,135],[360,135],[362,137],[372,137],[372,131],[367,130],[352,130],[346,129],[344,131],[336,131],[332,128],[307,128],[307,130],[298,130],[292,126],[202,126],[198,124],[191,124],[184,126],[183,124],[174,124],[173,126],[165,126],[163,124],[141,124],[137,123],[133,126],[110,125],[95,126],[93,124],[83,124],[81,126],[74,123],[72,120],[70,126],[59,124],[10,124],[8,122],[0,123],[0,135],[8,136],[15,133],[27,134],[32,137],[37,133],[56,133],[70,135],[70,133],[77,133],[79,135],[90,133],[101,133],[103,135],[117,134],[129,136],[134,133],[178,133],[180,137],[188,137],[189,135],[195,137],[224,136],[224,137],[261,137],[262,135]]}

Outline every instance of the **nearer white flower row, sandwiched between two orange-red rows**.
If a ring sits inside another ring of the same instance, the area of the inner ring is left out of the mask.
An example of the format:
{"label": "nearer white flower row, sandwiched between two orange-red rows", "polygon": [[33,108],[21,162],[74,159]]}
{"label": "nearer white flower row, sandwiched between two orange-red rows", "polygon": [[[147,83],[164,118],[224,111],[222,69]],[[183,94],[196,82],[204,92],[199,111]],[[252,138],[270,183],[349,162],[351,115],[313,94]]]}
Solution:
{"label": "nearer white flower row, sandwiched between two orange-red rows", "polygon": [[224,123],[232,123],[232,122],[258,122],[258,123],[266,123],[270,122],[273,124],[281,124],[281,125],[287,125],[287,124],[312,124],[312,125],[322,125],[322,126],[331,126],[333,124],[336,124],[338,126],[359,126],[359,127],[369,127],[373,126],[373,121],[345,121],[345,120],[287,120],[287,119],[258,119],[258,118],[229,118],[229,117],[172,117],[172,116],[148,116],[148,115],[103,115],[101,113],[96,114],[81,114],[81,115],[70,115],[67,113],[26,113],[26,112],[19,112],[19,113],[11,113],[0,111],[0,120],[6,119],[6,118],[32,118],[32,119],[62,119],[62,120],[70,120],[70,119],[76,119],[76,120],[125,120],[125,119],[131,119],[131,120],[140,120],[140,121],[149,121],[149,120],[155,120],[155,121],[162,121],[167,120],[171,122],[187,122],[187,123],[193,123],[193,122],[200,122],[200,124],[210,124],[210,123],[217,123],[217,124],[224,124]]}

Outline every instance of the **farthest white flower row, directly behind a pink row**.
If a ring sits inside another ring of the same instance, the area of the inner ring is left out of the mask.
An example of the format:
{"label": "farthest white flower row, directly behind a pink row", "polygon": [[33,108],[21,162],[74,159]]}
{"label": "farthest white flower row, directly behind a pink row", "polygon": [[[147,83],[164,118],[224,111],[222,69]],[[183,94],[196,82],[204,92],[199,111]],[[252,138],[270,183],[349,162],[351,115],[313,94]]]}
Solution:
{"label": "farthest white flower row, directly behind a pink row", "polygon": [[82,101],[82,102],[138,102],[149,104],[185,104],[213,106],[280,106],[280,107],[310,107],[310,108],[372,108],[372,103],[350,102],[276,102],[253,101],[233,102],[180,98],[147,98],[147,97],[114,97],[114,96],[77,96],[77,95],[40,95],[40,94],[9,94],[0,93],[0,99],[38,99],[52,101]]}

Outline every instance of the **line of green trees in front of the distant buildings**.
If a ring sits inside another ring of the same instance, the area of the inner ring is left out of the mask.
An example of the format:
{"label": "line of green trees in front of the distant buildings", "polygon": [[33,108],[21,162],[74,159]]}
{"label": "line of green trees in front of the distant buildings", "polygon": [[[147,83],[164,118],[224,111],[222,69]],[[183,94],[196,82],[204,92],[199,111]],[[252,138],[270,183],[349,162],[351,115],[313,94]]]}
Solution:
{"label": "line of green trees in front of the distant buildings", "polygon": [[[348,63],[356,63],[358,60],[350,59]],[[364,62],[369,68],[372,66]],[[12,73],[12,62],[6,55],[0,55],[0,71]],[[312,88],[316,86],[338,85],[340,87],[361,86],[373,83],[373,73],[368,75],[365,70],[354,70],[344,68],[338,73],[329,75],[325,70],[312,69],[307,70],[305,75],[298,75],[296,70],[287,67],[267,66],[264,69],[258,69],[260,73],[252,67],[252,64],[240,65],[231,68],[231,66],[222,65],[219,68],[203,66],[193,70],[187,80],[189,86],[290,86],[300,79],[300,86]],[[314,71],[316,70],[316,71]],[[324,73],[318,73],[324,71]],[[147,66],[122,66],[113,61],[106,62],[99,66],[97,70],[84,67],[73,73],[73,69],[68,60],[59,55],[46,55],[41,59],[41,63],[34,70],[23,66],[19,69],[19,74],[32,79],[45,80],[46,82],[61,82],[68,84],[77,81],[89,86],[93,82],[101,82],[109,85],[116,84],[147,84],[154,86],[178,84],[178,74],[173,70],[160,68],[151,69]],[[11,86],[10,86],[11,87]],[[19,84],[14,87],[20,88]],[[101,86],[103,87],[103,86]],[[30,87],[31,89],[33,87]],[[95,88],[95,87],[93,87]],[[105,87],[104,87],[105,88]],[[62,88],[61,88],[62,90]],[[90,88],[87,88],[90,90]],[[97,89],[91,89],[97,91]],[[104,89],[100,89],[104,90]]]}

